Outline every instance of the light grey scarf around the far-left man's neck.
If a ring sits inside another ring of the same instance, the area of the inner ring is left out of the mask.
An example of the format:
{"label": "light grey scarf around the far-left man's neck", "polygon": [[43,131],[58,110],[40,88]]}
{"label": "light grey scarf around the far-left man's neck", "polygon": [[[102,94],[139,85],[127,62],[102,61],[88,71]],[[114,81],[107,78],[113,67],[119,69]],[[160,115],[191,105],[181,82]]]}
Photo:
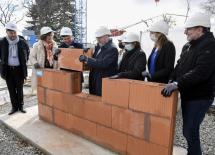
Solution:
{"label": "light grey scarf around the far-left man's neck", "polygon": [[9,44],[9,55],[13,58],[18,57],[17,43],[19,42],[19,37],[17,36],[15,40],[10,40],[10,38],[8,36],[6,36],[6,39]]}

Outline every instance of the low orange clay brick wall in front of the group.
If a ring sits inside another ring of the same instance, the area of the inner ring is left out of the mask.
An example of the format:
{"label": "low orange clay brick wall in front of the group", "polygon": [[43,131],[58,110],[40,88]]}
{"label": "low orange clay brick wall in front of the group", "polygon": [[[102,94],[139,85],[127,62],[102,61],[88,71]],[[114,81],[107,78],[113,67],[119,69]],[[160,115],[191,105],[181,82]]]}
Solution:
{"label": "low orange clay brick wall in front of the group", "polygon": [[161,84],[125,79],[103,79],[102,97],[50,86],[38,85],[42,120],[120,154],[172,155],[177,92],[164,98]]}

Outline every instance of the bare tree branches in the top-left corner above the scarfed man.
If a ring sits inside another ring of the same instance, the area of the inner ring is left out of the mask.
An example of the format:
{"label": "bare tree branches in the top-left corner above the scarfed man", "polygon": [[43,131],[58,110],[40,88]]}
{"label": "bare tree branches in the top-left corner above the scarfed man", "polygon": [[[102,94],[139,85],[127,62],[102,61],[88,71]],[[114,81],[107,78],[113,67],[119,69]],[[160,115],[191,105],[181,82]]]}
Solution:
{"label": "bare tree branches in the top-left corner above the scarfed man", "polygon": [[24,15],[17,18],[15,15],[18,10],[19,5],[17,5],[14,0],[6,0],[0,2],[0,24],[5,26],[6,23],[14,21],[16,23],[24,19]]}

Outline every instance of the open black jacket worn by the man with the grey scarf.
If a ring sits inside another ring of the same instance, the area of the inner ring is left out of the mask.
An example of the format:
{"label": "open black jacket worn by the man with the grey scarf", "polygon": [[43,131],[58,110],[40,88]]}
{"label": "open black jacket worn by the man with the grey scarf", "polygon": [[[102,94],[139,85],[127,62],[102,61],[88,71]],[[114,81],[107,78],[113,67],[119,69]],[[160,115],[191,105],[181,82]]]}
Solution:
{"label": "open black jacket worn by the man with the grey scarf", "polygon": [[[0,72],[1,77],[6,79],[7,77],[7,66],[8,66],[8,55],[9,55],[9,44],[6,38],[0,40]],[[25,40],[22,38],[19,39],[18,42],[18,57],[20,66],[22,67],[23,71],[23,78],[26,79],[28,72],[27,72],[27,61],[29,57],[29,47]]]}

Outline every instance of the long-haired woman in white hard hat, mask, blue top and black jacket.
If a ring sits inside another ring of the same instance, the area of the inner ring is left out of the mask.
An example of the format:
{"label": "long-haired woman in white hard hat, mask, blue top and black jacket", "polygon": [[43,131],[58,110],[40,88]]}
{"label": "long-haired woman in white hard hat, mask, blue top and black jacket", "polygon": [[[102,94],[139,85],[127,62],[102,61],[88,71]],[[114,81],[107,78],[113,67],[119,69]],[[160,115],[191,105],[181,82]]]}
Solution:
{"label": "long-haired woman in white hard hat, mask, blue top and black jacket", "polygon": [[148,58],[148,71],[142,73],[148,81],[168,83],[174,69],[175,46],[168,40],[169,26],[164,21],[158,21],[149,29],[154,48]]}

